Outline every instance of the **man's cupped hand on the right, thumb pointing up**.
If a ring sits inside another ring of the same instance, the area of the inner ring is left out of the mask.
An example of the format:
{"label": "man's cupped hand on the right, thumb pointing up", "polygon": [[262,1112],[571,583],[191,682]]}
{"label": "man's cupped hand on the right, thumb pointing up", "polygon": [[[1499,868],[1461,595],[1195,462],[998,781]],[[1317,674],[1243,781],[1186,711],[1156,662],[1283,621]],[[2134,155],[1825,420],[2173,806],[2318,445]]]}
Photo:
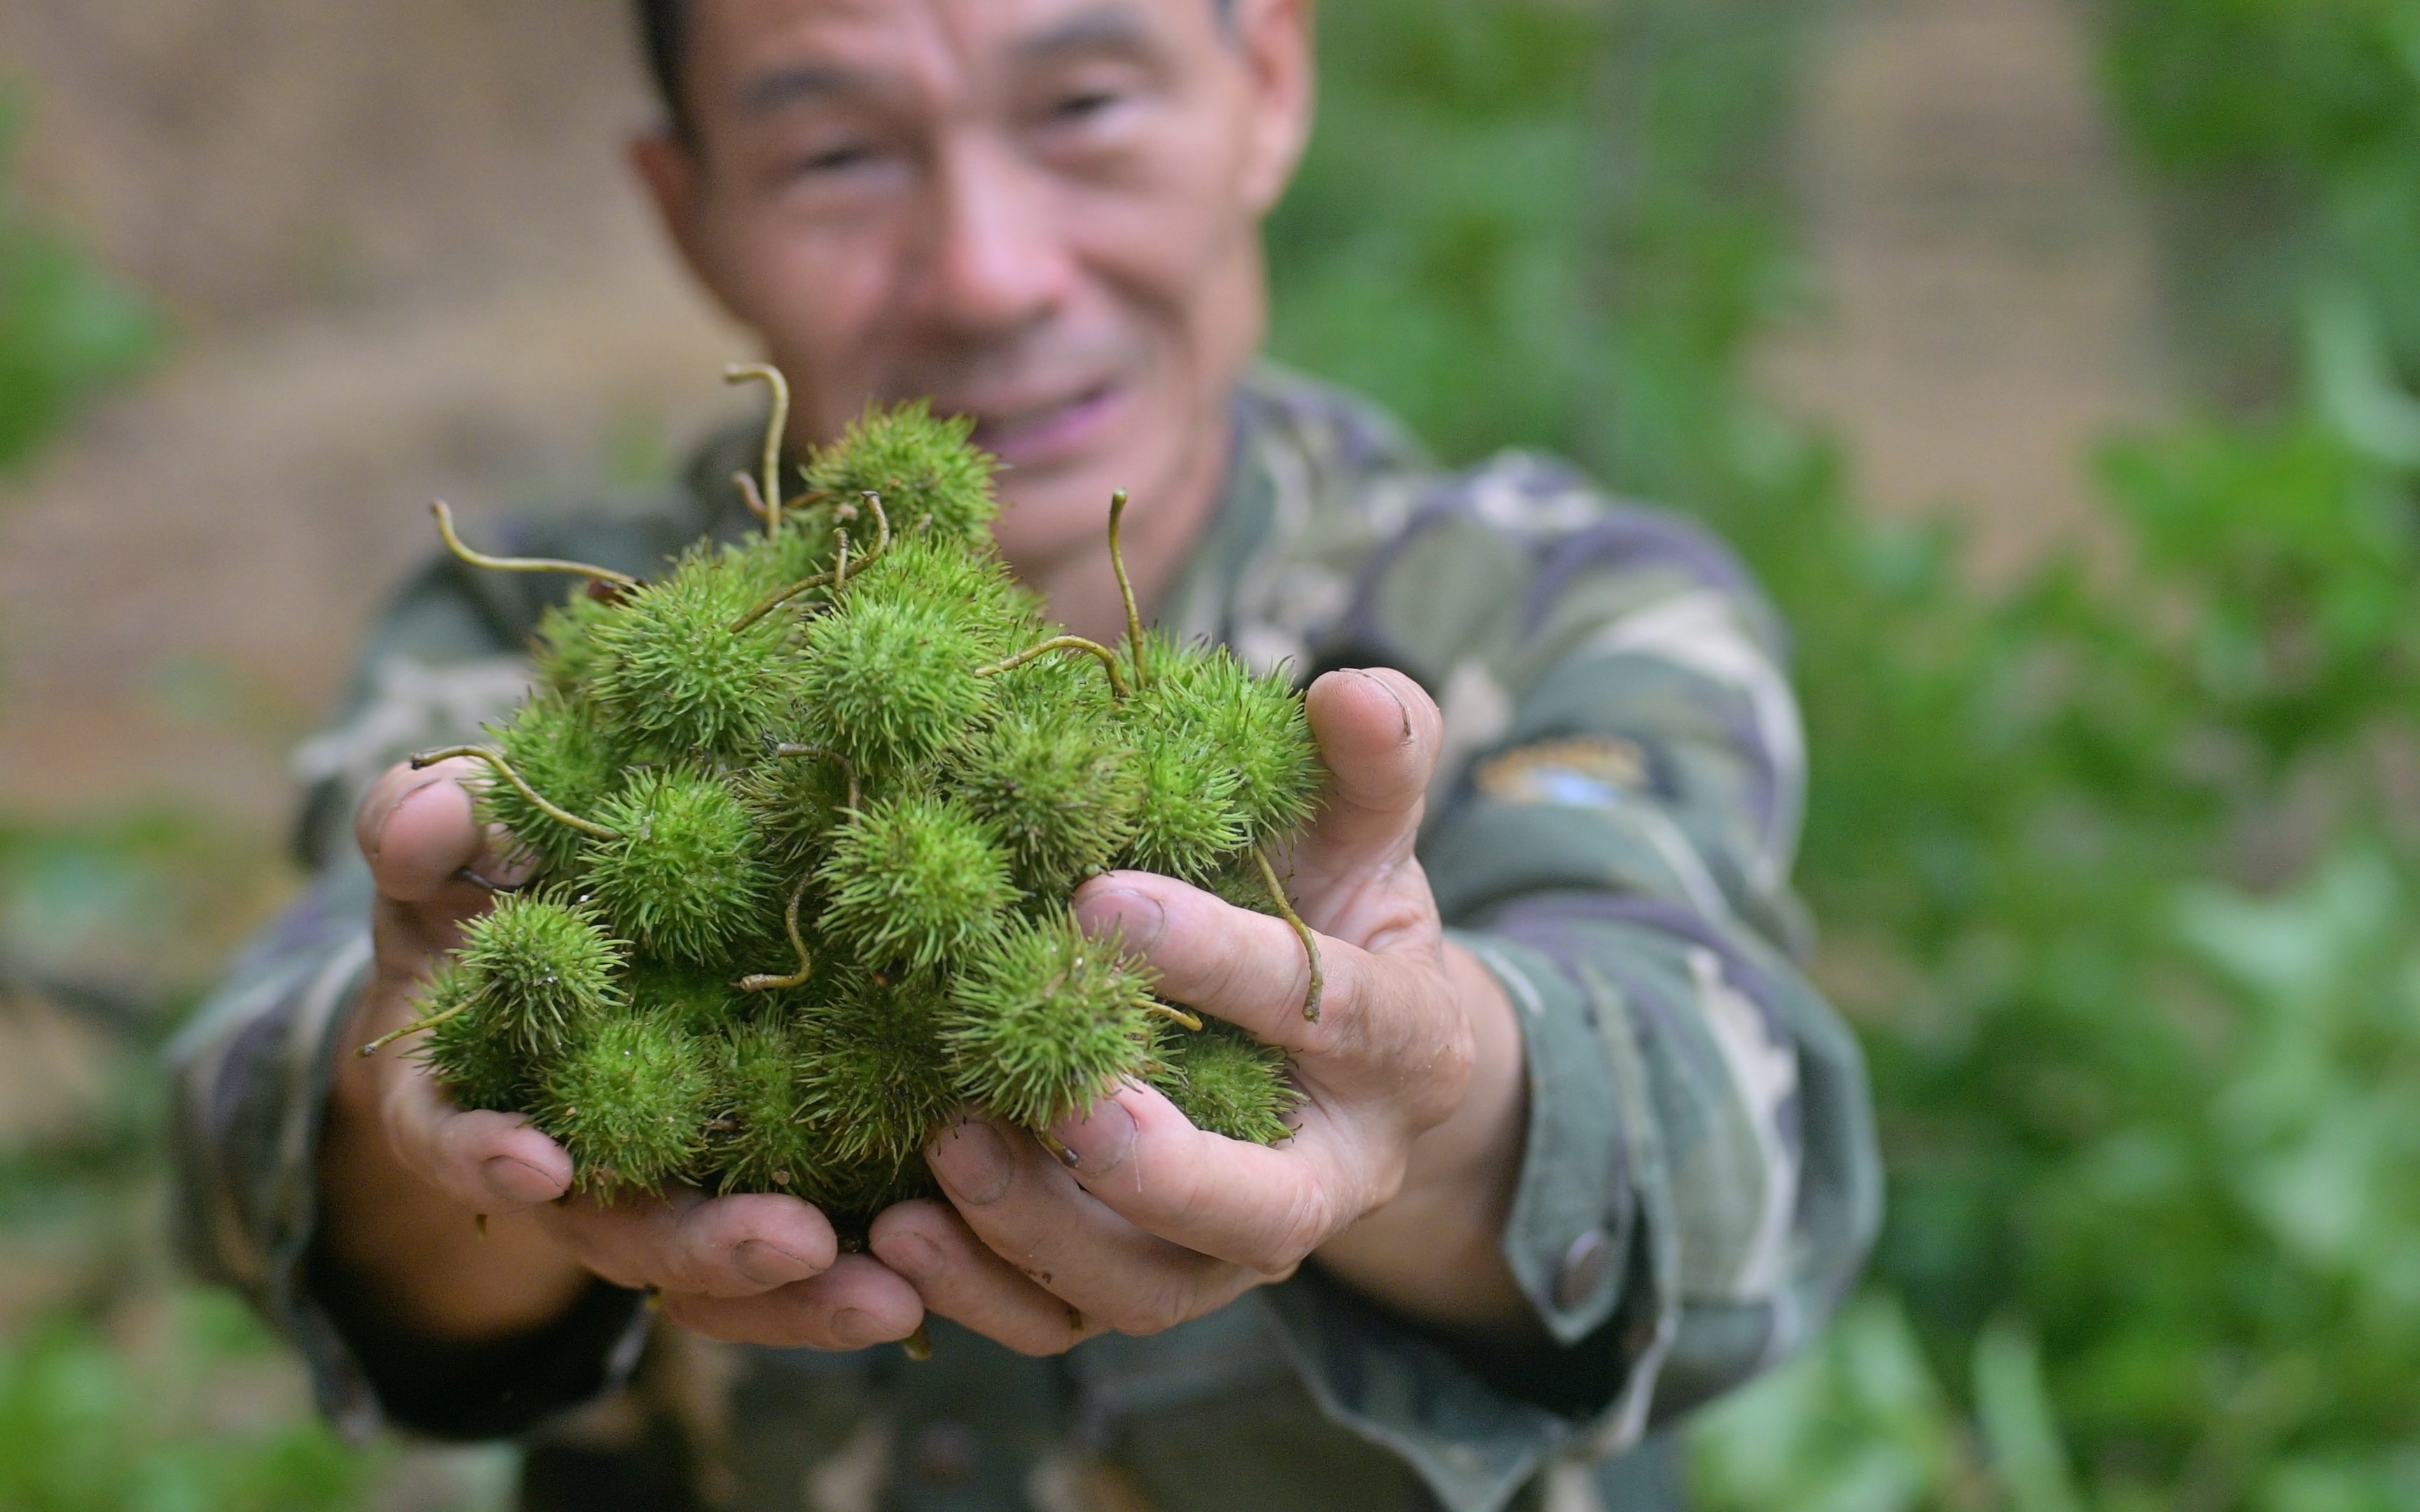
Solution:
{"label": "man's cupped hand on the right, thumb pointing up", "polygon": [[1413,856],[1437,706],[1401,673],[1331,673],[1309,719],[1331,781],[1292,893],[1326,968],[1316,1021],[1283,919],[1137,871],[1077,893],[1087,929],[1118,931],[1162,997],[1292,1052],[1307,1098],[1295,1137],[1222,1139],[1142,1086],[1053,1130],[1065,1156],[966,1118],[927,1152],[949,1205],[893,1207],[871,1234],[932,1311],[1041,1355],[1157,1333],[1319,1256],[1413,1316],[1520,1326],[1498,1253],[1520,1166],[1520,1026],[1445,941]]}

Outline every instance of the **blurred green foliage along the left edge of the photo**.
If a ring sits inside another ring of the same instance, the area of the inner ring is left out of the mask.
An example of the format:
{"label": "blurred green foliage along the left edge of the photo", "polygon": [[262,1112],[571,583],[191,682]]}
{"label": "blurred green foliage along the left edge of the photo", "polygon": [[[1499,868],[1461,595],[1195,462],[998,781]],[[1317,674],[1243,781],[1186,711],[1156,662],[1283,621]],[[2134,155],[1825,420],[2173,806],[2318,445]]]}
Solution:
{"label": "blurred green foliage along the left edge of the photo", "polygon": [[[150,305],[15,194],[15,128],[0,97],[0,472],[157,341]],[[0,810],[0,1052],[19,1072],[0,1106],[0,1512],[336,1510],[380,1464],[310,1415],[240,1302],[169,1282],[160,1256],[157,1048],[278,885],[259,849],[174,813]],[[44,1077],[65,1091],[34,1113]]]}

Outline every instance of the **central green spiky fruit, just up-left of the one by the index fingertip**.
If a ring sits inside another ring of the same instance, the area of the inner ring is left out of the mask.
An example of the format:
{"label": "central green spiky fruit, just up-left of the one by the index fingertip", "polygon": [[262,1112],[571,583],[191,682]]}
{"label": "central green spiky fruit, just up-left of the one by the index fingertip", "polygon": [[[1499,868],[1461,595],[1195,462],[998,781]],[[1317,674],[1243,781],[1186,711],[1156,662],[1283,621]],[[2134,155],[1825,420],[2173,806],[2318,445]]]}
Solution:
{"label": "central green spiky fruit, just up-left of the one by the index fingertip", "polygon": [[816,881],[820,934],[876,965],[953,963],[1016,902],[999,837],[934,793],[869,806],[832,839]]}

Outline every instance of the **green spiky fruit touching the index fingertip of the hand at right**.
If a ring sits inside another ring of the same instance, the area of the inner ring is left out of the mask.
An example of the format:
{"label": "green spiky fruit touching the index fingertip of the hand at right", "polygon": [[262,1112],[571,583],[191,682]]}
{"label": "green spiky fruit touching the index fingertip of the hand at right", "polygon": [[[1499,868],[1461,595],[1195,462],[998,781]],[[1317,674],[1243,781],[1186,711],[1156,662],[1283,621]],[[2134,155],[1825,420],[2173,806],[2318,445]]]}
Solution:
{"label": "green spiky fruit touching the index fingertip of the hand at right", "polygon": [[958,1091],[1028,1130],[1089,1108],[1150,1064],[1154,980],[1070,912],[1012,924],[949,992]]}

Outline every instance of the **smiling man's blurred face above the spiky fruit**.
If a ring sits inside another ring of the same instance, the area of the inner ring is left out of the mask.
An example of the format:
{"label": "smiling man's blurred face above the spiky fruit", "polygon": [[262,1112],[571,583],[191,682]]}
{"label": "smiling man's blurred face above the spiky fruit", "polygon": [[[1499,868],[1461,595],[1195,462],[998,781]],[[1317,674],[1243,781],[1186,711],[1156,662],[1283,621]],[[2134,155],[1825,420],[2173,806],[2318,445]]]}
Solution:
{"label": "smiling man's blurred face above the spiky fruit", "polygon": [[796,387],[975,416],[1002,547],[1050,561],[1205,491],[1309,116],[1302,0],[697,0],[695,143],[639,162]]}

